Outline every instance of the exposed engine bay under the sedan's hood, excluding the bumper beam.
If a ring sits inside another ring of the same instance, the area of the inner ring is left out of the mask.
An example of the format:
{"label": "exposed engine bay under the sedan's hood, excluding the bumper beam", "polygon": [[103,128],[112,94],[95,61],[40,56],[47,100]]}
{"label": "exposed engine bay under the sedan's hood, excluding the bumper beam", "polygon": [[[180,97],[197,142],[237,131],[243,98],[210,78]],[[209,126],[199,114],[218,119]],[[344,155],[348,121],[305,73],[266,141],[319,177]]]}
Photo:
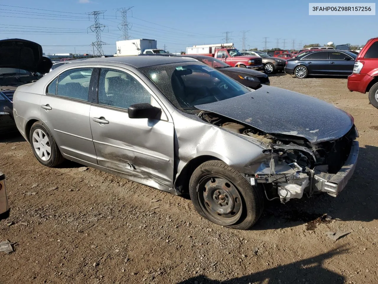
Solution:
{"label": "exposed engine bay under the sedan's hood, excluding the bumper beam", "polygon": [[304,137],[264,133],[213,112],[201,111],[198,116],[266,148],[263,150],[269,155],[266,161],[258,166],[254,175],[245,174],[245,178],[252,185],[260,184],[268,200],[279,198],[282,203],[291,198],[302,198],[304,193],[310,197],[316,191],[313,186],[316,172],[338,173],[348,159],[352,142],[358,137],[353,125],[339,139],[312,144]]}

